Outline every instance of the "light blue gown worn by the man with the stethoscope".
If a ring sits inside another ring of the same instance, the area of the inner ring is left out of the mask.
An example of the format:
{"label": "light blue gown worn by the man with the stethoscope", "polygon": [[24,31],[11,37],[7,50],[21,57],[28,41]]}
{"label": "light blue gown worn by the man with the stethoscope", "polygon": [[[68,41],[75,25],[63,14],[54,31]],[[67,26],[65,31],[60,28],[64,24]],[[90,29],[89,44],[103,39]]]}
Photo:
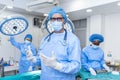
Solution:
{"label": "light blue gown worn by the man with the stethoscope", "polygon": [[56,60],[62,63],[61,70],[55,70],[45,66],[41,62],[40,80],[75,80],[75,73],[81,68],[81,49],[79,39],[71,32],[67,32],[66,45],[64,44],[64,33],[53,33],[50,37],[44,38],[41,42],[39,54],[42,53],[51,57],[51,52],[55,52]]}

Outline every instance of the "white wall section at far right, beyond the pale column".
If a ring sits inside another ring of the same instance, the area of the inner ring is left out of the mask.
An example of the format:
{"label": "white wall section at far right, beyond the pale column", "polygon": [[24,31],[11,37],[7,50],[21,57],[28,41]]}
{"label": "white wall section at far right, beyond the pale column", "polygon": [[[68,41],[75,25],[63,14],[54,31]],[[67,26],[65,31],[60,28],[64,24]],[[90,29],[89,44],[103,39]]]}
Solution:
{"label": "white wall section at far right, beyond the pale column", "polygon": [[120,13],[105,16],[105,53],[112,51],[113,59],[120,60]]}

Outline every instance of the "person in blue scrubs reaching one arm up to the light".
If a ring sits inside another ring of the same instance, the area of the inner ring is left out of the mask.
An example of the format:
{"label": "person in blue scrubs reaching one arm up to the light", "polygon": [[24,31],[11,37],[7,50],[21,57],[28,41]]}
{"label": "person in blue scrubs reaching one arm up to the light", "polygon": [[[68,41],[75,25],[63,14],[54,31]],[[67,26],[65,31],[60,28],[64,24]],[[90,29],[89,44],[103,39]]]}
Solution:
{"label": "person in blue scrubs reaching one arm up to the light", "polygon": [[36,56],[36,48],[32,44],[32,35],[27,34],[24,38],[24,42],[16,42],[14,37],[10,37],[10,42],[13,46],[18,48],[21,52],[19,60],[19,73],[25,73],[35,70],[35,65],[28,58],[29,56]]}

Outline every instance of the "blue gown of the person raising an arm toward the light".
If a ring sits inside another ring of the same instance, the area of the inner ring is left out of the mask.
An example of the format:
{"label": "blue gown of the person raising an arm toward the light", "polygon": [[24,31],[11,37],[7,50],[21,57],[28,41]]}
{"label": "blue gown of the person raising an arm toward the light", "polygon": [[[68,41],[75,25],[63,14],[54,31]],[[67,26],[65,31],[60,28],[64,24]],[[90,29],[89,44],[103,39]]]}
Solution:
{"label": "blue gown of the person raising an arm toward the light", "polygon": [[14,37],[10,37],[10,42],[13,46],[18,48],[21,52],[20,61],[19,61],[19,73],[28,72],[28,69],[30,66],[32,66],[32,68],[34,70],[35,69],[34,64],[31,63],[29,60],[27,60],[26,50],[28,49],[28,46],[30,46],[31,51],[33,53],[33,56],[35,56],[36,55],[36,48],[31,43],[25,44],[25,43],[16,42]]}

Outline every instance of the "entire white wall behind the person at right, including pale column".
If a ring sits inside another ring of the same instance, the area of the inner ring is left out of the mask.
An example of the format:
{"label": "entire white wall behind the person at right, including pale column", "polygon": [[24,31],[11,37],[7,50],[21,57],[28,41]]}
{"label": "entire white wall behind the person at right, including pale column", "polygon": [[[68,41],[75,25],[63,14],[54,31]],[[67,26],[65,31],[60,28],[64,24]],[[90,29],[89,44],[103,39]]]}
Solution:
{"label": "entire white wall behind the person at right, including pale column", "polygon": [[101,33],[105,38],[102,43],[105,59],[107,59],[108,52],[112,51],[113,60],[120,61],[120,13],[94,15],[87,20],[87,44],[89,44],[90,34]]}

